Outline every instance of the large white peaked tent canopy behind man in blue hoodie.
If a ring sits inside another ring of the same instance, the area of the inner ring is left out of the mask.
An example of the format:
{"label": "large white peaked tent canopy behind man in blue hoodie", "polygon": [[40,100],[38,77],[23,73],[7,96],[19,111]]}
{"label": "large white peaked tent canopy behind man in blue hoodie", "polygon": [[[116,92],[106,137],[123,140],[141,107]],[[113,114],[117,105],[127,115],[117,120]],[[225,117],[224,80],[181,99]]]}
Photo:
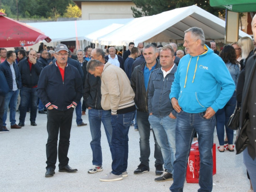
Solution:
{"label": "large white peaked tent canopy behind man in blue hoodie", "polygon": [[[119,29],[101,36],[101,45],[128,46],[129,42],[169,42],[184,39],[190,27],[202,28],[206,39],[224,39],[225,21],[193,5],[166,11],[153,16],[135,18]],[[239,37],[248,34],[239,30]]]}

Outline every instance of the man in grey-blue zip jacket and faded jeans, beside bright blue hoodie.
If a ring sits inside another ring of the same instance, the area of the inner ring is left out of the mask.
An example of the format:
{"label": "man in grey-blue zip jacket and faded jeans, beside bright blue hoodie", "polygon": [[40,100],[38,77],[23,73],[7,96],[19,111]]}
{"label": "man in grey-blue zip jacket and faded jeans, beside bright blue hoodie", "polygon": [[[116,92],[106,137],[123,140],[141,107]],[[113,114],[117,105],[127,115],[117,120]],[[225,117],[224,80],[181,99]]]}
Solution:
{"label": "man in grey-blue zip jacket and faded jeans, beside bright blue hoodie", "polygon": [[164,46],[160,51],[162,67],[152,72],[148,86],[148,121],[153,128],[164,161],[164,171],[155,179],[156,182],[173,180],[176,112],[170,103],[169,94],[177,71],[174,60],[173,48],[169,45]]}

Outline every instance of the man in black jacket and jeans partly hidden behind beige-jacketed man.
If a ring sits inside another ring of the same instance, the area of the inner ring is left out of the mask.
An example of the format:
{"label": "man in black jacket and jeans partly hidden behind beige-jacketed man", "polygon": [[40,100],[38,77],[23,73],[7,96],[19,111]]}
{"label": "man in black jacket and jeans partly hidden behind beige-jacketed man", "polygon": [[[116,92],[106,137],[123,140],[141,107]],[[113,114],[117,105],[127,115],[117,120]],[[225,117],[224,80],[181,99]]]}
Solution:
{"label": "man in black jacket and jeans partly hidden behind beige-jacketed man", "polygon": [[[104,59],[104,51],[96,48],[91,53],[92,60],[99,60],[102,63],[106,63]],[[101,172],[102,168],[102,152],[100,146],[101,138],[101,122],[104,125],[106,132],[106,138],[108,139],[110,150],[112,150],[111,138],[112,138],[112,124],[111,124],[111,111],[104,111],[101,108],[101,79],[95,77],[90,73],[87,74],[86,82],[84,86],[83,99],[88,108],[90,130],[92,135],[91,148],[93,152],[93,166],[88,170],[88,173],[94,174]]]}

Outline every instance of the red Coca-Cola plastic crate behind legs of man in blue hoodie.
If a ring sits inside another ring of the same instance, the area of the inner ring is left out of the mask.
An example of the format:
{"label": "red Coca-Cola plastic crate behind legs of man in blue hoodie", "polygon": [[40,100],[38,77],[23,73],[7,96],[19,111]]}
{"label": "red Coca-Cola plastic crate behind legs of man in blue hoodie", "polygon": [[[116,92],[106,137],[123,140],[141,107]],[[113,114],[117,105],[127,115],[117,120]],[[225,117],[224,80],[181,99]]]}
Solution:
{"label": "red Coca-Cola plastic crate behind legs of man in blue hoodie", "polygon": [[[212,175],[216,174],[216,144],[212,146],[212,160],[213,169]],[[190,154],[187,160],[187,183],[198,183],[199,182],[199,170],[200,170],[200,156],[198,143],[191,145]]]}

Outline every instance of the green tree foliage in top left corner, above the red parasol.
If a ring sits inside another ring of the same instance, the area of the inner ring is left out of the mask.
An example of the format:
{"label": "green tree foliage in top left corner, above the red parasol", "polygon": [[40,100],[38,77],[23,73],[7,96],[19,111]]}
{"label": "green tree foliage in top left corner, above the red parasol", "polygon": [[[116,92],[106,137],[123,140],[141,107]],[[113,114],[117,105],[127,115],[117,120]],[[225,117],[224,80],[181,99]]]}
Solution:
{"label": "green tree foliage in top left corner, above the red parasol", "polygon": [[17,18],[57,18],[66,15],[72,0],[2,0],[2,9],[8,17]]}

